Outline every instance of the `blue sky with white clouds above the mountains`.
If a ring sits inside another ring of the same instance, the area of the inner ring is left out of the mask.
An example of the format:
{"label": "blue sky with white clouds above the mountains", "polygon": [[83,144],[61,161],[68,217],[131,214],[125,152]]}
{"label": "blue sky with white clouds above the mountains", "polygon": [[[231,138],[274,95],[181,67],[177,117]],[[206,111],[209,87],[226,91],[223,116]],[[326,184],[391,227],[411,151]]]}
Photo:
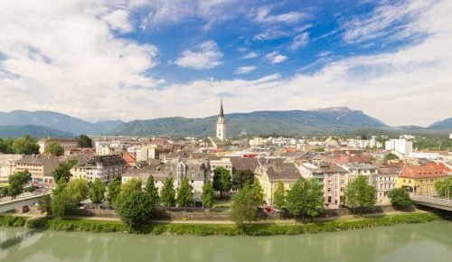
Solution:
{"label": "blue sky with white clouds above the mountains", "polygon": [[348,107],[452,117],[452,1],[0,2],[0,111],[90,121]]}

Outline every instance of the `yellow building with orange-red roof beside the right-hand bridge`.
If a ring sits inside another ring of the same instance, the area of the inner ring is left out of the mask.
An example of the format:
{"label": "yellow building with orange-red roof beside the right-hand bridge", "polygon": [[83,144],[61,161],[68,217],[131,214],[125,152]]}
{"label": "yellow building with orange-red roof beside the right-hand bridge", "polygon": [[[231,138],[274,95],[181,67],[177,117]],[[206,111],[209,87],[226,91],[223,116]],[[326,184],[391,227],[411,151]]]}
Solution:
{"label": "yellow building with orange-red roof beside the right-hand bridge", "polygon": [[436,194],[435,182],[446,179],[445,164],[405,165],[397,179],[397,187],[406,187],[409,192],[419,195]]}

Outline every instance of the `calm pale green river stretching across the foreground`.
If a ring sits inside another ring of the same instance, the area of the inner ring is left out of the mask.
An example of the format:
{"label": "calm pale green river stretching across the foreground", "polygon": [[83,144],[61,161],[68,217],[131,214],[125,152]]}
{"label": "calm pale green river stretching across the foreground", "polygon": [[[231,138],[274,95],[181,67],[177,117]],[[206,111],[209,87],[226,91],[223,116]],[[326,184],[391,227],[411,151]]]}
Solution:
{"label": "calm pale green river stretching across the foreground", "polygon": [[149,236],[0,227],[0,261],[452,262],[452,222],[276,237]]}

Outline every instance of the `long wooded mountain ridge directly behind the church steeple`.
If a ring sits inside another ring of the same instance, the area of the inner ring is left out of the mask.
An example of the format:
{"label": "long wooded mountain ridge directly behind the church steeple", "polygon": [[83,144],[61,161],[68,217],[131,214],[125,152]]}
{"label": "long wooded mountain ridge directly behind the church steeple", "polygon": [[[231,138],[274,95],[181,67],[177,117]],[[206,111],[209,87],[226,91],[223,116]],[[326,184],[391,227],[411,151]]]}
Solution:
{"label": "long wooded mountain ridge directly behind the church steeple", "polygon": [[[248,134],[322,135],[346,133],[355,128],[388,127],[363,111],[350,108],[321,108],[313,110],[256,111],[225,115],[228,132],[238,136]],[[212,136],[217,116],[203,118],[165,117],[135,120],[119,125],[115,135],[130,136]]]}

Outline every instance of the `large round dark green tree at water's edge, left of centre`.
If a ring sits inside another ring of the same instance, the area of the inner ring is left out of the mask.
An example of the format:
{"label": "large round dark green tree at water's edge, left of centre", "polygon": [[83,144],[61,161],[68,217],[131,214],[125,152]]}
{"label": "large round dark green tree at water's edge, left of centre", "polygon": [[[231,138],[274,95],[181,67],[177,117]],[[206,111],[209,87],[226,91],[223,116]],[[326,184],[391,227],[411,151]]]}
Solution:
{"label": "large round dark green tree at water's edge, left of centre", "polygon": [[135,228],[155,214],[155,201],[143,191],[133,191],[118,208],[119,216],[127,225]]}

